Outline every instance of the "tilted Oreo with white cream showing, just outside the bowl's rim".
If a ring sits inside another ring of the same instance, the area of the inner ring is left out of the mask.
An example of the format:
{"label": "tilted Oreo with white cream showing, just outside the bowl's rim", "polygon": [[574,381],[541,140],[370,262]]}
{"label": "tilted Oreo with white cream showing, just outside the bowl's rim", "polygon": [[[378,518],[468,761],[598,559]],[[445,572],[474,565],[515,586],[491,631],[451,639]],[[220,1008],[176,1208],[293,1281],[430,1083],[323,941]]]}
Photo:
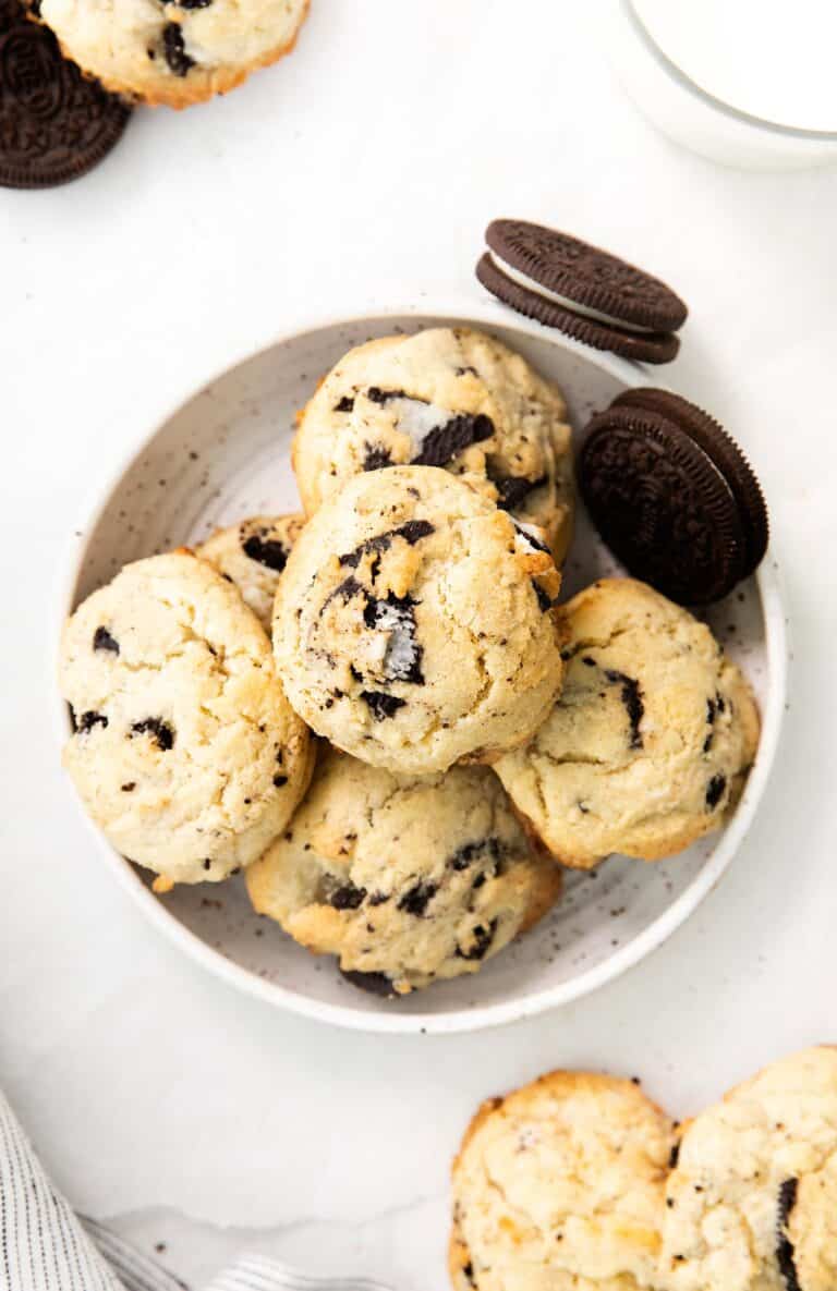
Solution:
{"label": "tilted Oreo with white cream showing, just outside the bowl's rim", "polygon": [[524,219],[495,219],[477,278],[519,314],[597,350],[669,363],[686,321],[683,301],[660,279],[610,252]]}

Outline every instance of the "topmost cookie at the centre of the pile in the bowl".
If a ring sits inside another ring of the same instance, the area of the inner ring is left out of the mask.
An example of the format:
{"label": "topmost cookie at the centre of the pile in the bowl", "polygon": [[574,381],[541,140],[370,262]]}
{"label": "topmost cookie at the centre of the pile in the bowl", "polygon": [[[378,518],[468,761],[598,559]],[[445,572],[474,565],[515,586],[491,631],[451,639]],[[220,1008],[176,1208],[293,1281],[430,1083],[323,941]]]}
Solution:
{"label": "topmost cookie at the centre of the pile in the bowl", "polygon": [[291,702],[332,744],[404,775],[488,762],[561,687],[548,549],[466,478],[353,476],[306,524],[276,594]]}

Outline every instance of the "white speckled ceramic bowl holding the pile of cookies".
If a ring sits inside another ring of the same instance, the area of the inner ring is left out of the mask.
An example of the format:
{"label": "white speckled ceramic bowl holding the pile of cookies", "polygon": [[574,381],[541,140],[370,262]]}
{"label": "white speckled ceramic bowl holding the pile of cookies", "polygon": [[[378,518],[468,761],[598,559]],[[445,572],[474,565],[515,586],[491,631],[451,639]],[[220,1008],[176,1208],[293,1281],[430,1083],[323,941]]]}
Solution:
{"label": "white speckled ceramic bowl holding the pile of cookies", "polygon": [[[369,337],[453,321],[487,328],[554,378],[576,427],[620,390],[655,381],[633,364],[513,319],[488,301],[460,302],[434,315],[380,314],[294,332],[192,394],[138,447],[76,540],[62,613],[128,560],[195,542],[216,525],[254,513],[296,509],[288,453],[293,414],[316,380]],[[564,591],[615,568],[581,515]],[[772,558],[709,617],[753,682],[762,709],[761,747],[735,817],[722,833],[657,865],[612,857],[593,874],[567,871],[564,897],[552,915],[475,976],[399,1001],[364,994],[340,977],[332,959],[307,954],[278,926],[257,918],[242,878],[156,897],[147,873],[94,829],[93,835],[158,928],[213,972],[271,1004],[375,1032],[473,1030],[566,1004],[637,963],[692,913],[726,870],[765,793],[787,673],[785,618]],[[61,729],[63,740],[63,706]]]}

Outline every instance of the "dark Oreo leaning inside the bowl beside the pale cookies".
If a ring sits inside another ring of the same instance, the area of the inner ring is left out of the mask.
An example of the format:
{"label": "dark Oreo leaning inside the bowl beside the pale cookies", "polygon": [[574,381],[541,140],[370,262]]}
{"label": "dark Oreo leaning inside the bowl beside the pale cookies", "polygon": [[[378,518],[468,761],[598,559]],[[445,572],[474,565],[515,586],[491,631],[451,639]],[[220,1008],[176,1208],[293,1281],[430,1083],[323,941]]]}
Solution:
{"label": "dark Oreo leaning inside the bowl beside the pale cookies", "polygon": [[579,454],[579,487],[607,546],[672,600],[721,600],[754,572],[767,510],[747,458],[695,404],[630,390],[598,413]]}

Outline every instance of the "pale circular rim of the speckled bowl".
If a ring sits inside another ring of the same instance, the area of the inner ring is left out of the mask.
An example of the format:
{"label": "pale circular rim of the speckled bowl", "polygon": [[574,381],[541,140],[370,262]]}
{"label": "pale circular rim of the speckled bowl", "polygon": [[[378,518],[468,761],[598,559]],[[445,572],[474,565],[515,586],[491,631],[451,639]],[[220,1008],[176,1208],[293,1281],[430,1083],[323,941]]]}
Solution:
{"label": "pale circular rim of the speckled bowl", "polygon": [[[431,307],[435,305],[438,307]],[[421,305],[376,307],[369,303],[358,314],[349,315],[309,315],[297,320],[292,327],[266,337],[256,347],[242,346],[236,349],[230,361],[221,371],[192,374],[186,389],[174,400],[167,400],[156,408],[150,409],[151,429],[136,442],[132,442],[119,461],[111,469],[107,479],[98,484],[92,493],[92,502],[84,507],[81,522],[76,529],[80,537],[70,544],[62,562],[59,578],[59,596],[57,603],[56,626],[53,631],[53,680],[52,692],[56,695],[57,735],[61,745],[65,744],[70,732],[67,707],[61,698],[54,684],[57,673],[58,652],[61,647],[61,627],[74,608],[75,589],[84,565],[88,549],[89,534],[96,529],[101,516],[110,503],[110,498],[119,487],[124,475],[130,470],[137,458],[146,452],[160,430],[176,417],[187,404],[190,404],[209,383],[216,383],[227,377],[235,368],[249,359],[256,359],[267,350],[279,345],[300,340],[328,328],[344,325],[362,325],[363,323],[393,319],[394,325],[399,319],[412,318],[416,321],[422,319],[428,324],[433,321],[461,321],[477,323],[482,327],[502,327],[512,332],[521,332],[530,338],[548,341],[559,349],[567,350],[579,358],[585,359],[598,367],[606,374],[615,377],[626,387],[647,385],[650,374],[638,363],[621,359],[617,355],[594,350],[571,337],[564,337],[554,329],[540,323],[515,315],[505,306],[488,298],[456,298],[443,301],[422,301]],[[660,383],[660,382],[655,382]],[[767,551],[760,569],[756,573],[756,582],[762,603],[762,616],[765,624],[765,646],[767,653],[769,692],[761,714],[762,729],[756,760],[750,769],[747,786],[738,804],[735,815],[726,825],[719,837],[718,844],[703,865],[698,875],[687,888],[642,930],[636,937],[614,950],[599,964],[589,968],[568,981],[555,986],[548,986],[532,991],[521,999],[512,999],[504,1003],[473,1006],[453,1010],[447,1013],[416,1012],[416,1013],[388,1013],[363,1011],[349,1004],[333,1004],[310,999],[296,990],[266,981],[254,972],[234,963],[220,950],[213,949],[203,941],[195,932],[187,928],[173,914],[170,914],[151,889],[142,882],[140,875],[125,861],[125,859],[108,843],[105,834],[94,825],[84,811],[76,794],[72,799],[76,811],[87,825],[89,833],[96,839],[97,852],[102,856],[115,873],[121,887],[129,893],[141,911],[146,915],[164,936],[178,946],[189,958],[202,964],[216,977],[223,980],[229,986],[245,991],[248,995],[264,1001],[273,1007],[287,1008],[302,1017],[314,1019],[319,1022],[328,1022],[349,1030],[377,1033],[377,1034],[459,1034],[466,1032],[484,1030],[502,1026],[510,1022],[533,1017],[548,1010],[559,1008],[584,995],[598,990],[610,981],[615,981],[634,964],[639,963],[660,945],[663,945],[688,919],[701,905],[704,899],[717,887],[722,875],[728,869],[732,857],[738,852],[741,842],[753,822],[775,760],[781,720],[785,710],[785,697],[788,686],[789,646],[788,646],[788,620],[785,615],[781,577],[775,559],[772,545]],[[639,864],[645,864],[638,861]]]}

